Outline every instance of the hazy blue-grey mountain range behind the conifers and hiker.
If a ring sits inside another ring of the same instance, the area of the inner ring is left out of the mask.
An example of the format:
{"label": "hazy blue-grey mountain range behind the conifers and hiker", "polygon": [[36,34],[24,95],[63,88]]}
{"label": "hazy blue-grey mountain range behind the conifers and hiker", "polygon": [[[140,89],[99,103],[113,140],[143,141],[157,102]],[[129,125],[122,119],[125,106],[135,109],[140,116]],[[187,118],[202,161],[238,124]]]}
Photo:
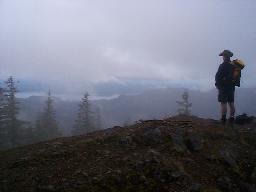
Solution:
{"label": "hazy blue-grey mountain range behind the conifers and hiker", "polygon": [[[182,88],[159,88],[146,90],[140,94],[120,95],[114,99],[92,100],[92,108],[100,109],[103,128],[129,125],[140,119],[159,119],[177,114],[176,101],[181,100]],[[19,99],[20,118],[34,122],[44,108],[46,98],[31,96]],[[189,90],[192,114],[203,118],[219,118],[217,91]],[[73,126],[79,101],[54,98],[56,117],[65,135]],[[237,114],[256,115],[256,89],[239,88],[236,91]]]}

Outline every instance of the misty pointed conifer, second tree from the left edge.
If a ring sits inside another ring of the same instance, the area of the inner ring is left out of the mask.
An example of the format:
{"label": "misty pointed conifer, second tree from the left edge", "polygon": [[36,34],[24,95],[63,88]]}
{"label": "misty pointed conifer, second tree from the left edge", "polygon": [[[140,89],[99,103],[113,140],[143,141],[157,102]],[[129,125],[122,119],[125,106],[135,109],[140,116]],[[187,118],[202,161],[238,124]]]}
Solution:
{"label": "misty pointed conifer, second tree from the left edge", "polygon": [[44,111],[36,121],[36,137],[38,140],[49,140],[57,138],[60,135],[59,125],[55,117],[53,99],[49,90]]}

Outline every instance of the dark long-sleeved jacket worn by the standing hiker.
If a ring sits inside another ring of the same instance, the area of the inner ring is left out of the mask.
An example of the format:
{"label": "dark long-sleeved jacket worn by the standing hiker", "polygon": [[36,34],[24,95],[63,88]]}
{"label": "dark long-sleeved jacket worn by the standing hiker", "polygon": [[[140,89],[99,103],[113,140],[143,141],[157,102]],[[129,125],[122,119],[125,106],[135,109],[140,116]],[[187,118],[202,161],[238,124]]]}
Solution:
{"label": "dark long-sleeved jacket worn by the standing hiker", "polygon": [[233,83],[233,70],[234,65],[230,63],[230,61],[225,61],[220,64],[219,69],[215,75],[215,86],[218,89],[235,89],[235,85]]}

